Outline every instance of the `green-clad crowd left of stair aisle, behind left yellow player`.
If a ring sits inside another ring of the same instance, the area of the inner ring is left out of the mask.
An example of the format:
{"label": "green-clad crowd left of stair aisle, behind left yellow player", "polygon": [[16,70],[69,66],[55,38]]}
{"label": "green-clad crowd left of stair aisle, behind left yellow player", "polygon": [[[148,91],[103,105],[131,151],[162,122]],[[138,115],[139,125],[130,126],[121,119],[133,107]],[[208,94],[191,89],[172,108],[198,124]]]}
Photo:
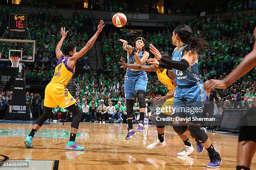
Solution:
{"label": "green-clad crowd left of stair aisle, behind left yellow player", "polygon": [[[6,14],[8,13],[22,13],[21,8],[17,10],[15,7],[3,7],[2,11]],[[76,44],[77,51],[84,47],[84,44],[88,41],[88,34],[84,31],[84,25],[92,23],[92,13],[77,13],[73,14],[73,18],[64,18],[61,14],[55,11],[53,15],[49,13],[49,10],[38,10],[33,14],[27,15],[29,28],[29,33],[31,40],[36,40],[36,52],[35,52],[35,62],[32,64],[26,64],[28,66],[25,69],[27,82],[38,82],[43,84],[49,82],[54,74],[54,68],[58,62],[55,55],[55,47],[59,41],[60,28],[65,26],[66,30],[69,30],[69,36],[65,39],[64,43],[72,42]],[[5,33],[4,38],[8,38],[8,30]],[[10,47],[16,44],[11,43],[1,43],[0,52],[2,58],[8,58]],[[33,50],[28,50],[33,52]],[[23,49],[23,54],[26,51]],[[31,54],[32,55],[32,54]],[[88,62],[88,53],[80,58],[79,65],[77,69],[90,70],[90,65]],[[10,63],[1,63],[1,66],[5,66]]]}

